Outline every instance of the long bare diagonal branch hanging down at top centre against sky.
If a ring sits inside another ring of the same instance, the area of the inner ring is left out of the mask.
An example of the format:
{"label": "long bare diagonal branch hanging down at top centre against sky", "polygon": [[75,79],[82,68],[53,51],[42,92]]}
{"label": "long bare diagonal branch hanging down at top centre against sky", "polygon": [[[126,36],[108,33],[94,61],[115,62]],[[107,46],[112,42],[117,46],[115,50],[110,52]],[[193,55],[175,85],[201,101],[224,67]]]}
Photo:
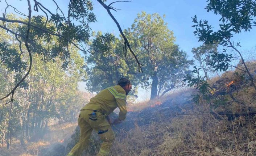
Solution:
{"label": "long bare diagonal branch hanging down at top centre against sky", "polygon": [[[136,62],[137,62],[137,64],[138,64],[138,68],[139,68],[139,72],[140,72],[140,70],[141,70],[141,72],[143,72],[143,70],[142,70],[142,68],[141,68],[141,66],[143,66],[140,62],[139,62],[139,60],[138,60],[138,58],[137,58],[137,56],[134,54],[134,52],[133,52],[133,50],[132,50],[132,48],[131,48],[131,46],[130,46],[130,43],[129,43],[129,41],[128,41],[128,39],[125,37],[125,35],[124,35],[124,33],[123,33],[123,30],[121,29],[121,27],[120,27],[120,25],[119,25],[119,23],[117,22],[117,20],[116,20],[116,18],[112,15],[112,13],[110,12],[110,5],[106,5],[105,3],[103,3],[103,1],[102,0],[97,0],[106,10],[107,10],[107,12],[108,12],[108,14],[110,15],[110,17],[113,19],[113,21],[116,23],[116,25],[117,25],[117,27],[118,27],[118,29],[119,29],[119,31],[120,31],[120,34],[122,35],[122,37],[124,38],[124,44],[125,45],[127,45],[127,47],[129,48],[129,50],[130,50],[130,52],[132,53],[132,55],[134,56],[134,58],[135,58],[135,60],[136,60]],[[115,2],[113,2],[113,3],[115,3]],[[112,4],[113,4],[112,3]]]}

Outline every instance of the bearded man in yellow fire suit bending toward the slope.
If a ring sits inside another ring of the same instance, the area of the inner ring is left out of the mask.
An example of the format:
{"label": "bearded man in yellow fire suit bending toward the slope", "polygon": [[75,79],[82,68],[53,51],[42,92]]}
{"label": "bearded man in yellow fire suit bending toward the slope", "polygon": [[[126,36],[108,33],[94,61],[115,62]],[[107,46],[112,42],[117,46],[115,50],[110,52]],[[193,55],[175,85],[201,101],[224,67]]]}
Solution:
{"label": "bearded man in yellow fire suit bending toward the slope", "polygon": [[126,96],[131,91],[132,84],[128,79],[122,78],[118,84],[99,92],[85,105],[78,118],[80,127],[79,142],[71,149],[67,156],[81,156],[89,143],[92,130],[98,132],[103,141],[97,156],[107,156],[115,140],[108,115],[119,107],[119,117],[112,124],[120,123],[127,113]]}

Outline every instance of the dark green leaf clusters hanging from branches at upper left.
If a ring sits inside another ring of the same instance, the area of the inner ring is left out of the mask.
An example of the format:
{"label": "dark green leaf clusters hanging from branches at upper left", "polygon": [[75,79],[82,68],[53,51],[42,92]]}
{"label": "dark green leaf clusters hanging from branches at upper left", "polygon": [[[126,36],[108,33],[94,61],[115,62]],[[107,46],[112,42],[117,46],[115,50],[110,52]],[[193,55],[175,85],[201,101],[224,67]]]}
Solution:
{"label": "dark green leaf clusters hanging from branches at upper left", "polygon": [[[36,3],[34,10],[38,11],[38,7],[42,8],[40,6],[40,3]],[[89,24],[96,21],[96,16],[92,13],[92,9],[90,0],[71,0],[67,18],[62,14],[58,14],[58,11],[56,14],[49,12],[50,18],[48,15],[46,17],[40,15],[33,16],[28,37],[32,55],[41,55],[41,59],[45,63],[49,61],[56,62],[57,59],[61,59],[62,68],[67,69],[71,62],[71,48],[75,46],[84,53],[91,52],[91,49],[86,50],[81,45],[87,45],[91,38]],[[5,18],[20,22],[27,22],[28,20],[26,18],[19,18],[14,14],[7,14]],[[27,25],[18,22],[7,22],[5,26],[18,35],[9,31],[8,34],[11,34],[12,38],[0,40],[0,62],[9,71],[16,72],[15,77],[16,82],[18,82],[28,70],[29,56],[25,55],[28,51],[24,46]],[[104,34],[98,37],[92,39],[92,43],[97,47],[96,51],[104,52],[108,50],[108,42],[112,40],[110,35]],[[15,43],[13,45],[16,46],[14,47],[7,43]],[[28,85],[23,81],[20,87],[28,88]]]}

